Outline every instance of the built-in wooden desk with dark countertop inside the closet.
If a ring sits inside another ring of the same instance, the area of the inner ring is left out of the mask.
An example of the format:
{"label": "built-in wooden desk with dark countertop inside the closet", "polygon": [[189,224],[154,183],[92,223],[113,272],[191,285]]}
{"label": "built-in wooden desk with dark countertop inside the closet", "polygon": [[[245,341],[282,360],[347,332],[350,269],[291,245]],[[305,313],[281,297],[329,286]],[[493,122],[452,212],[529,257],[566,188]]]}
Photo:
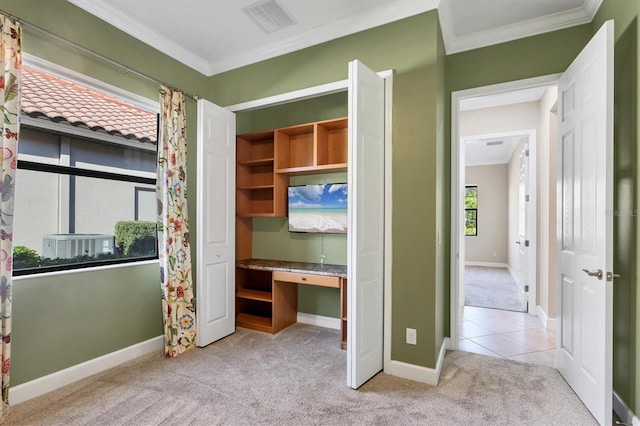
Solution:
{"label": "built-in wooden desk with dark countertop inside the closet", "polygon": [[298,286],[340,289],[341,347],[347,344],[347,267],[245,259],[236,262],[236,325],[277,333],[297,322]]}

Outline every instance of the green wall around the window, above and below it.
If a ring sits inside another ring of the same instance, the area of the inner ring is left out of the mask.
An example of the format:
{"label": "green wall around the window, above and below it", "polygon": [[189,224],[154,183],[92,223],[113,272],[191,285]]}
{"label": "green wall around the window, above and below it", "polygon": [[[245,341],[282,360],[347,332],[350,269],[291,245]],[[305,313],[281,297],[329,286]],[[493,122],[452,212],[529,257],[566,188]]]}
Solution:
{"label": "green wall around the window, above and below it", "polygon": [[[0,0],[0,10],[167,84],[207,95],[207,78],[65,0]],[[29,27],[24,50],[157,100],[157,84],[52,42]],[[195,102],[187,102],[189,161],[196,164]],[[195,166],[189,169],[195,193]],[[189,199],[195,224],[195,197]],[[191,235],[196,235],[191,232]],[[195,240],[193,241],[195,242]],[[192,248],[194,245],[192,244]],[[162,334],[159,268],[153,264],[23,277],[13,286],[11,384],[18,385]]]}

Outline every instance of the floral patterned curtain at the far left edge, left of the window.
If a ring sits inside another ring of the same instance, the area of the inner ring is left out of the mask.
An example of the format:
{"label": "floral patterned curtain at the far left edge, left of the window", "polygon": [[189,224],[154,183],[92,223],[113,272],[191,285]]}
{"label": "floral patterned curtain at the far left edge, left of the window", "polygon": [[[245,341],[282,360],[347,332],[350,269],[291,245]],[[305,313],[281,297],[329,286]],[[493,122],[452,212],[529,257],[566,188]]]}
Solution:
{"label": "floral patterned curtain at the far left edge, left of the window", "polygon": [[0,15],[0,74],[2,121],[2,176],[0,181],[0,323],[2,326],[2,404],[0,420],[9,411],[9,366],[11,365],[11,264],[13,261],[13,197],[18,164],[20,130],[20,76],[22,30],[18,22]]}

